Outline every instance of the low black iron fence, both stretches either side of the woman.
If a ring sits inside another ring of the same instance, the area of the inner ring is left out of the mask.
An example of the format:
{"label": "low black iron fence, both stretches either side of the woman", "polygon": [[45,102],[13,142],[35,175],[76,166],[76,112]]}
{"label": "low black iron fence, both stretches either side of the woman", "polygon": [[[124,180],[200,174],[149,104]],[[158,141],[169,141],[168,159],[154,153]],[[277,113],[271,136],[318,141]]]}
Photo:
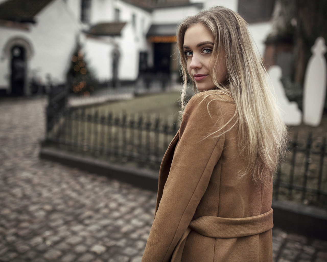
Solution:
{"label": "low black iron fence, both stretches either side of the woman", "polygon": [[[179,123],[156,117],[124,113],[88,113],[70,108],[54,117],[46,142],[99,159],[159,170]],[[275,199],[327,207],[326,138],[295,135],[274,180]]]}

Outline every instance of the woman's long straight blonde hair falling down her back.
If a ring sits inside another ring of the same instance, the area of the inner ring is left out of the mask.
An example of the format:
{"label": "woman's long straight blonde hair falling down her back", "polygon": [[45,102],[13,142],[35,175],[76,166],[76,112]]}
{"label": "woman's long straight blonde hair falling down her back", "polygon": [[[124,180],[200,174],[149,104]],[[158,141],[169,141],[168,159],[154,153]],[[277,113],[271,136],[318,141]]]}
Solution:
{"label": "woman's long straight blonde hair falling down her back", "polygon": [[[234,123],[238,124],[239,129],[238,147],[244,153],[247,163],[240,175],[251,174],[256,182],[270,183],[278,160],[285,152],[287,130],[271,93],[267,71],[255,51],[247,23],[236,12],[224,7],[213,7],[186,17],[179,25],[177,45],[184,80],[182,108],[185,107],[187,82],[190,79],[183,53],[184,34],[187,28],[197,23],[206,26],[214,37],[209,74],[217,89],[209,93],[227,94],[235,102]],[[222,55],[225,57],[227,78],[224,83],[218,83],[217,66]],[[193,87],[197,92],[194,82]],[[213,133],[215,134],[217,132]]]}

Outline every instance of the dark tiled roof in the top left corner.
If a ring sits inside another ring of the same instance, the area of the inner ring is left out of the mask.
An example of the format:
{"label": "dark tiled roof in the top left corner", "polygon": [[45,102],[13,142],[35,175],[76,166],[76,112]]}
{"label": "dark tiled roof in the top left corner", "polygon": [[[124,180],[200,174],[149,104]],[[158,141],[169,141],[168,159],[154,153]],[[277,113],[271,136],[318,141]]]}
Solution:
{"label": "dark tiled roof in the top left corner", "polygon": [[0,19],[35,23],[35,16],[52,0],[7,0],[0,4]]}

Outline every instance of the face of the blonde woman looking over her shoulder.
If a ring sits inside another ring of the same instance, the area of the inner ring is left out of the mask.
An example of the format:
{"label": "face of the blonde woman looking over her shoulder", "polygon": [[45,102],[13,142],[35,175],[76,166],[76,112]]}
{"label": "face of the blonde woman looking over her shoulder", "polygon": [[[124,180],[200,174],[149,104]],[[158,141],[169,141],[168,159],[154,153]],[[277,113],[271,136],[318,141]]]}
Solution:
{"label": "face of the blonde woman looking over her shoulder", "polygon": [[[211,90],[216,86],[209,74],[210,58],[214,47],[214,37],[201,23],[187,28],[184,35],[183,50],[187,59],[187,71],[199,91]],[[224,56],[218,62],[218,83],[226,80]]]}

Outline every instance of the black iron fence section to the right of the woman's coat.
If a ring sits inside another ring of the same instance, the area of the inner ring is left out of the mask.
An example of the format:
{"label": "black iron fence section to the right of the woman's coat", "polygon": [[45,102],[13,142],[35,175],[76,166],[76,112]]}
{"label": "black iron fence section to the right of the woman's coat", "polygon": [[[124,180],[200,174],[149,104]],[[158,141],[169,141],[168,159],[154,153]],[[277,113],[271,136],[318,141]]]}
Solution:
{"label": "black iron fence section to the right of the woman's coat", "polygon": [[296,133],[274,180],[274,198],[327,207],[326,137]]}

